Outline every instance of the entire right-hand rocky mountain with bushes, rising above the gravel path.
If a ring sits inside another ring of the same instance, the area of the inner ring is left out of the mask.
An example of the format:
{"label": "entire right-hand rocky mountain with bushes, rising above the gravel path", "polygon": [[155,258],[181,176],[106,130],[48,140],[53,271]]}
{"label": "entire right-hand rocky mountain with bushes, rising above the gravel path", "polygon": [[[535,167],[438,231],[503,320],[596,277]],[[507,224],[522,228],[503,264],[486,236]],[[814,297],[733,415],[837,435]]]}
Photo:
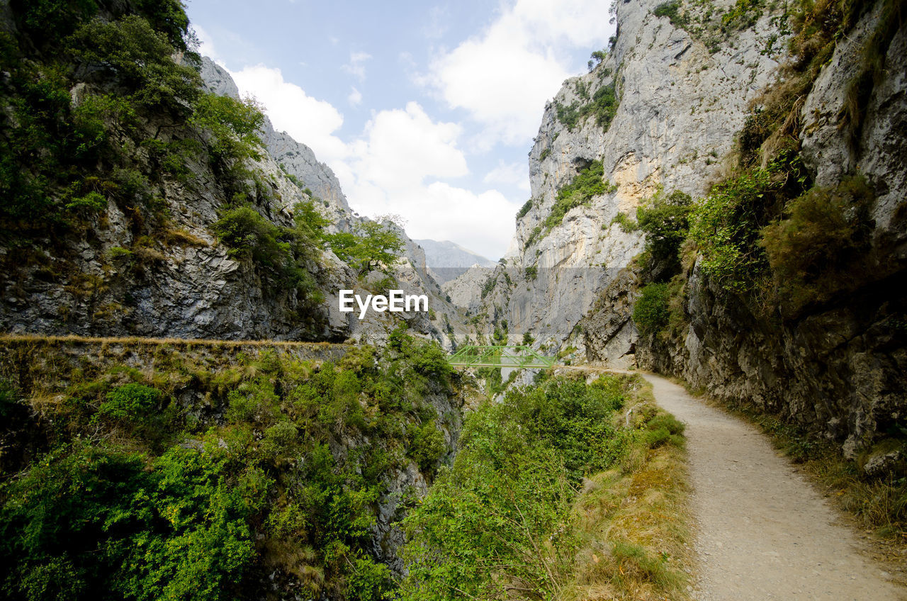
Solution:
{"label": "entire right-hand rocky mountain with bushes, rising above the gravel path", "polygon": [[897,5],[616,3],[616,39],[546,106],[516,251],[475,279],[484,331],[677,374],[850,456],[887,444],[907,389]]}

